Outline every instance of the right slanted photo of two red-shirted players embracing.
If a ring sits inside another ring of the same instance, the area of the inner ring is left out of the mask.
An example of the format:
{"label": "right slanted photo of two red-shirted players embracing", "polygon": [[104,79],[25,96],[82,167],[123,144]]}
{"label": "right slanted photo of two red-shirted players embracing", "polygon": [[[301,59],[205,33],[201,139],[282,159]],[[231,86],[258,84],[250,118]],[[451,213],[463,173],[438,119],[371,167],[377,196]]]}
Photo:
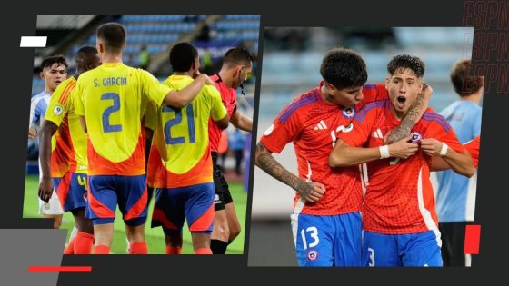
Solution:
{"label": "right slanted photo of two red-shirted players embracing", "polygon": [[250,266],[474,264],[473,34],[265,28]]}

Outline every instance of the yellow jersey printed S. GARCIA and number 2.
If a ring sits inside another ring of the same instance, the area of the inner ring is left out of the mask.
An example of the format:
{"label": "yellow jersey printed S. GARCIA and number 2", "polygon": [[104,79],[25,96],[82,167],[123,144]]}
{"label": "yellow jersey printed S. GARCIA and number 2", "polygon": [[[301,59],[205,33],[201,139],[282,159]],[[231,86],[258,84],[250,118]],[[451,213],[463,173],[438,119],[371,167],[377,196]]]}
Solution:
{"label": "yellow jersey printed S. GARCIA and number 2", "polygon": [[89,175],[145,173],[146,105],[160,105],[170,88],[152,74],[105,63],[80,75],[75,113],[85,116]]}

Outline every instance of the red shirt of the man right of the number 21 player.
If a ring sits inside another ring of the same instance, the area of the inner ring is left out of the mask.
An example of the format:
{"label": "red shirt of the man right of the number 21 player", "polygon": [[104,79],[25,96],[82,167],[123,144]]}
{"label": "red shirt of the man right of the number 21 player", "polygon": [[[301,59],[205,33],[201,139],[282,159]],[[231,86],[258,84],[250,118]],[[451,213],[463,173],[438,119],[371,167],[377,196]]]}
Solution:
{"label": "red shirt of the man right of the number 21 player", "polygon": [[[226,107],[228,117],[232,118],[232,114],[237,110],[237,92],[235,88],[226,86],[225,82],[223,82],[221,77],[219,77],[219,74],[212,75],[210,79],[214,82],[215,88],[217,88],[219,94],[221,94],[221,100],[223,101],[223,105]],[[219,140],[221,140],[221,132],[222,130],[217,127],[217,124],[215,124],[212,119],[209,119],[208,137],[210,141],[210,149],[214,152],[217,152]]]}

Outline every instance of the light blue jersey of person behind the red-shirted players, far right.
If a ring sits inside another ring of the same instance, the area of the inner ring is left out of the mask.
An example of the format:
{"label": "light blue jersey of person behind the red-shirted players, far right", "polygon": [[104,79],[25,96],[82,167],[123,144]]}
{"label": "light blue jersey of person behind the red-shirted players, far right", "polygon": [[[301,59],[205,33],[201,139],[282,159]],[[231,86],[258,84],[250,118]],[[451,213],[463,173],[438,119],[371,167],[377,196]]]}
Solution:
{"label": "light blue jersey of person behind the red-shirted players, far right", "polygon": [[[447,106],[442,115],[453,126],[461,143],[481,133],[481,106],[471,101],[456,101]],[[439,222],[474,221],[477,174],[468,179],[452,170],[436,174],[439,188],[436,192],[436,211]]]}

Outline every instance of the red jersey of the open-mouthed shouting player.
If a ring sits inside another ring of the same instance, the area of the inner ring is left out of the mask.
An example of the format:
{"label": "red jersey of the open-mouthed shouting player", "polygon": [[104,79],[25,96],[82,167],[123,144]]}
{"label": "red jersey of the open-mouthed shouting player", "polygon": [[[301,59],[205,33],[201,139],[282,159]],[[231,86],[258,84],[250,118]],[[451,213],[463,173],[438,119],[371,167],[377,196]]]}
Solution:
{"label": "red jersey of the open-mouthed shouting player", "polygon": [[[350,146],[376,147],[384,134],[400,124],[390,110],[390,101],[365,104],[356,114],[350,133],[339,139]],[[428,108],[412,129],[413,140],[434,138],[454,151],[464,147],[447,121]],[[387,158],[367,163],[363,205],[364,230],[385,234],[419,233],[437,230],[434,192],[430,182],[431,157],[421,150],[406,160]]]}

